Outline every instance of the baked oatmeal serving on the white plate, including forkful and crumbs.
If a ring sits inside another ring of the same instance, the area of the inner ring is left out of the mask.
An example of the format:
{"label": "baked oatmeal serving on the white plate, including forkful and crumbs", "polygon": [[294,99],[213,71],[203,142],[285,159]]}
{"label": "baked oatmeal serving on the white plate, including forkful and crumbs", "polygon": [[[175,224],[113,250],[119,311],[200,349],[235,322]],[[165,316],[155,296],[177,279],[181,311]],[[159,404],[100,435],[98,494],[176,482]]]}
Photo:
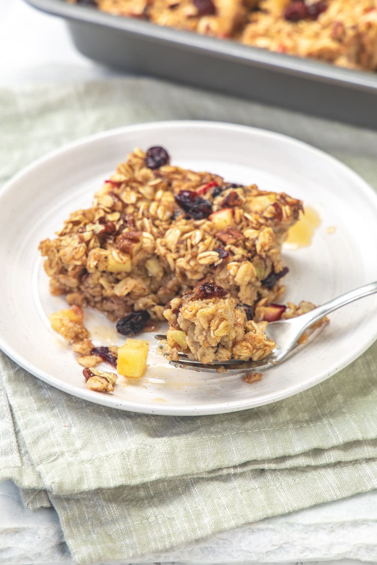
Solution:
{"label": "baked oatmeal serving on the white plate, including forkful and crumbs", "polygon": [[92,207],[73,212],[57,237],[40,244],[50,292],[71,305],[52,314],[51,325],[95,390],[115,384],[114,373],[107,386],[94,370],[102,361],[140,377],[149,344],[131,338],[119,348],[94,347],[85,306],[105,312],[125,336],[167,319],[158,351],[168,359],[179,348],[202,363],[262,359],[275,346],[264,333],[268,321],[314,307],[276,304],[288,272],[281,245],[300,211],[302,202],[285,193],[171,166],[163,147],[135,149]]}

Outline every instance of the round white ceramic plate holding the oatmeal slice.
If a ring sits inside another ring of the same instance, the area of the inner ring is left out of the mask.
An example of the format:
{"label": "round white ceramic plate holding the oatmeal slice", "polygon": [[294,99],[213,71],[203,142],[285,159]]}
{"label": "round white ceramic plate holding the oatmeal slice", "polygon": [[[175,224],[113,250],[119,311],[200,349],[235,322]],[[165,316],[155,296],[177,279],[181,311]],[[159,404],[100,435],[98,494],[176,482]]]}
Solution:
{"label": "round white ceramic plate holding the oatmeal slice", "polygon": [[[301,198],[322,224],[309,247],[285,249],[285,300],[323,303],[377,280],[377,196],[337,160],[279,134],[239,125],[193,121],[142,124],[97,134],[64,147],[20,172],[0,194],[0,346],[33,375],[98,404],[149,414],[193,415],[244,410],[310,388],[356,359],[377,337],[377,297],[331,315],[331,323],[291,358],[253,385],[242,377],[177,370],[154,354],[140,381],[120,376],[114,393],[86,389],[82,368],[47,315],[65,307],[52,297],[38,254],[68,214],[88,207],[94,191],[135,146],[163,145],[172,163],[219,173],[226,180]],[[335,227],[329,234],[327,228]],[[98,312],[85,323],[96,345],[120,345],[123,336]],[[164,328],[161,327],[161,330]]]}

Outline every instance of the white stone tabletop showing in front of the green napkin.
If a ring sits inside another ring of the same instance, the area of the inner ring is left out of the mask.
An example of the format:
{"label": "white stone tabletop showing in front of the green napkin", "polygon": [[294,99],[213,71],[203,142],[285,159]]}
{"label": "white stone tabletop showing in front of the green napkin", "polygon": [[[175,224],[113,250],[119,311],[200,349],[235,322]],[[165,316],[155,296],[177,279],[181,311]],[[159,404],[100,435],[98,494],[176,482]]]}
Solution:
{"label": "white stone tabletop showing in front of the green napkin", "polygon": [[[1,565],[73,565],[55,510],[24,510],[11,481],[0,483],[0,509]],[[309,565],[322,560],[377,562],[377,491],[220,532],[143,555],[135,563]]]}

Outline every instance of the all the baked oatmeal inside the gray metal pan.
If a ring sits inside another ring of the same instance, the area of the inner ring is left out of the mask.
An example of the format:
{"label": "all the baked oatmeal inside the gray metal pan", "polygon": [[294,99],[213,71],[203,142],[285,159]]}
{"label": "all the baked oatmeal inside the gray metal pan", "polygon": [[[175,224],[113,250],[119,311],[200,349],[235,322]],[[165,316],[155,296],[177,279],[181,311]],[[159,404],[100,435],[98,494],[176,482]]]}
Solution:
{"label": "all the baked oatmeal inside the gray metal pan", "polygon": [[68,0],[342,67],[377,68],[377,0]]}

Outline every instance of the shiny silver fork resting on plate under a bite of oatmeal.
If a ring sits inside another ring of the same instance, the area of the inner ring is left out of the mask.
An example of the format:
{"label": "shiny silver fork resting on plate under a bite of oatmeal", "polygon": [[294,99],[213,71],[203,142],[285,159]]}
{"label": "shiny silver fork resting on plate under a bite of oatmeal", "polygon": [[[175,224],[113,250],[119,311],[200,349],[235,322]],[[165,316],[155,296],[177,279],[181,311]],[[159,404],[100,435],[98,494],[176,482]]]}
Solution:
{"label": "shiny silver fork resting on plate under a bite of oatmeal", "polygon": [[[269,367],[274,366],[276,363],[280,363],[287,357],[293,347],[297,344],[298,338],[310,328],[316,321],[320,320],[330,312],[337,310],[341,306],[349,304],[354,300],[369,296],[377,292],[377,282],[370,282],[365,286],[361,286],[350,292],[346,292],[337,298],[333,298],[330,302],[326,302],[318,308],[314,308],[306,314],[297,316],[297,318],[291,318],[289,320],[279,320],[270,322],[266,328],[266,336],[269,340],[275,341],[276,347],[270,355],[262,359],[261,361],[239,361],[239,360],[229,360],[223,363],[215,363],[213,365],[205,365],[200,363],[200,361],[190,361],[187,359],[187,353],[179,353],[179,361],[169,361],[171,365],[177,368],[191,369],[193,371],[205,371],[216,373],[219,372],[219,367],[224,367],[224,370],[220,372],[227,373],[239,373],[246,371],[265,371]],[[164,340],[166,336],[161,334],[156,334],[154,336],[157,340]]]}

